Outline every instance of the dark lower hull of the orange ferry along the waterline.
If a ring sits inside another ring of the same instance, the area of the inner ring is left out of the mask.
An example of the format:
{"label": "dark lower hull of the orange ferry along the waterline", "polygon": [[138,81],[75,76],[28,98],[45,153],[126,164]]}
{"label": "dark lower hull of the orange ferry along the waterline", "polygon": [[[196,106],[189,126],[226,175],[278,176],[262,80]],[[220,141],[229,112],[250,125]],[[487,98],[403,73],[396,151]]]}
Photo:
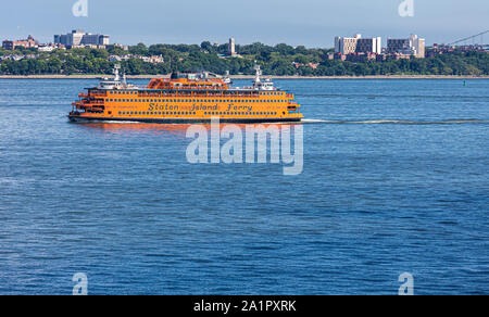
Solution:
{"label": "dark lower hull of the orange ferry along the waterline", "polygon": [[[210,124],[210,118],[121,118],[121,117],[95,117],[68,115],[73,123],[97,123],[97,122],[135,122],[148,124]],[[287,118],[220,118],[224,124],[264,124],[264,123],[300,123],[300,117]]]}

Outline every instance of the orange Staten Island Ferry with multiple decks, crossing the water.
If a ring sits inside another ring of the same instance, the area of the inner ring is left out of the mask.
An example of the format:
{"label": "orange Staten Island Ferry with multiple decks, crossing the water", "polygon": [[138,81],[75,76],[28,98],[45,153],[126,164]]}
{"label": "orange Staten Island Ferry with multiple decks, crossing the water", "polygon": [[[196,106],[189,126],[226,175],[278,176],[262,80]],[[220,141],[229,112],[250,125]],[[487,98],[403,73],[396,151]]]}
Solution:
{"label": "orange Staten Island Ferry with multiple decks, crossing the water", "polygon": [[222,123],[300,122],[303,115],[293,94],[256,78],[251,87],[234,88],[227,77],[203,74],[173,74],[170,79],[154,78],[145,88],[121,79],[120,66],[114,79],[103,78],[96,88],[79,93],[68,117],[73,122],[114,121],[143,123]]}

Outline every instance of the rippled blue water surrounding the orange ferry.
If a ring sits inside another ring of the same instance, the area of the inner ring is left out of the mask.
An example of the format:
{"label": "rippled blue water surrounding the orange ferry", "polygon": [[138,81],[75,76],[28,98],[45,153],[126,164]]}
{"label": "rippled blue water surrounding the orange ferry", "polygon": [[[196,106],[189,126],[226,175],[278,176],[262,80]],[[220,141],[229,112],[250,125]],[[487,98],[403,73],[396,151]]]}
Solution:
{"label": "rippled blue water surrounding the orange ferry", "polygon": [[489,294],[489,80],[278,81],[298,176],[68,123],[95,84],[0,80],[0,294]]}

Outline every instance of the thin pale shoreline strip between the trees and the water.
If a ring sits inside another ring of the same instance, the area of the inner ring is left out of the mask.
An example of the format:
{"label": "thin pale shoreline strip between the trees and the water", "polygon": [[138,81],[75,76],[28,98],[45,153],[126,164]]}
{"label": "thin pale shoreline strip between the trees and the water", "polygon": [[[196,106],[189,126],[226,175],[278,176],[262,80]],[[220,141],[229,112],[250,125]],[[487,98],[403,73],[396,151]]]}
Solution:
{"label": "thin pale shoreline strip between the trees and the water", "polygon": [[[0,79],[98,79],[108,75],[0,75]],[[109,76],[111,77],[111,76]],[[254,79],[252,75],[234,75],[231,79]],[[375,76],[263,76],[272,79],[489,79],[489,76],[456,75],[375,75]],[[127,79],[170,78],[170,75],[133,75]]]}

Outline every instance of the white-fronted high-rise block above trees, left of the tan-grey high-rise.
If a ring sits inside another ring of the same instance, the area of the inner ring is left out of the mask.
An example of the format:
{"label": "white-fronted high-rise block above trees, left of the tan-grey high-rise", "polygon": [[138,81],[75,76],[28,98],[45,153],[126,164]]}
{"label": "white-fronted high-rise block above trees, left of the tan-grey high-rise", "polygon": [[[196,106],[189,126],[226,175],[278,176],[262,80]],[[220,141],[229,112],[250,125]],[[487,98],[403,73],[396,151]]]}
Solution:
{"label": "white-fronted high-rise block above trees, left of the tan-grey high-rise", "polygon": [[362,38],[362,35],[356,34],[353,37],[336,37],[335,52],[343,55],[354,53],[381,53],[381,38]]}

